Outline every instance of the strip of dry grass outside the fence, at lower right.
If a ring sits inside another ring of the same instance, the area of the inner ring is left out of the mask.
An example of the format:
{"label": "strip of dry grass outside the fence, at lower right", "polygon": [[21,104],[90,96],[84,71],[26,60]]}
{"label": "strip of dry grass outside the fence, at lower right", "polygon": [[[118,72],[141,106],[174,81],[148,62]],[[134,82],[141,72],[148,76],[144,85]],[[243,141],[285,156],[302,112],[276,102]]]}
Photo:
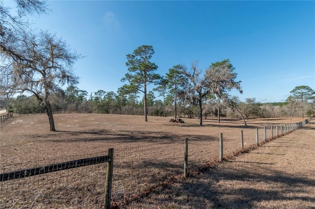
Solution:
{"label": "strip of dry grass outside the fence, at lower right", "polygon": [[135,204],[138,208],[315,208],[315,124],[217,163]]}

